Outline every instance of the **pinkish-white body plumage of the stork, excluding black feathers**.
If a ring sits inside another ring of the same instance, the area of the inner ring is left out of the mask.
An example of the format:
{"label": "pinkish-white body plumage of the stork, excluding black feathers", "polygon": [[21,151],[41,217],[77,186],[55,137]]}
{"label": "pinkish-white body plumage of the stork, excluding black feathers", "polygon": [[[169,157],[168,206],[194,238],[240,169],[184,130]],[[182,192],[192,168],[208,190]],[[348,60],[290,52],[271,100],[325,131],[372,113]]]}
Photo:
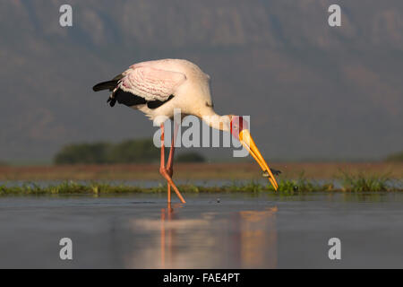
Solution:
{"label": "pinkish-white body plumage of the stork, excluding black feathers", "polygon": [[[160,124],[158,117],[171,118],[174,109],[180,109],[183,116],[217,116],[212,109],[209,80],[210,76],[192,62],[163,59],[130,66],[121,74],[114,92],[121,89],[146,101],[166,101],[156,109],[150,109],[147,103],[131,106]],[[174,97],[168,100],[171,95]]]}

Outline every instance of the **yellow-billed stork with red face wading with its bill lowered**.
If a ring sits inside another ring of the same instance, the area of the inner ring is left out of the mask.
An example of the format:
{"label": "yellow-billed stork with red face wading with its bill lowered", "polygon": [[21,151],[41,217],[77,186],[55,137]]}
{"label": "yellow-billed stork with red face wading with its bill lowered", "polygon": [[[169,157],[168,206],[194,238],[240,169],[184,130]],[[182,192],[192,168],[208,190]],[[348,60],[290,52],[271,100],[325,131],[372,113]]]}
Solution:
{"label": "yellow-billed stork with red face wading with its bill lowered", "polygon": [[214,111],[209,81],[210,76],[203,73],[201,68],[192,62],[182,59],[162,59],[131,65],[124,73],[118,74],[110,81],[98,83],[92,88],[94,91],[112,91],[107,99],[111,107],[115,106],[117,101],[133,109],[139,109],[160,126],[159,172],[167,179],[168,203],[171,201],[171,187],[174,188],[182,203],[185,203],[184,197],[172,181],[176,135],[172,138],[167,166],[165,165],[164,121],[167,117],[174,117],[175,109],[180,109],[182,115],[200,117],[212,128],[230,132],[259,163],[275,190],[278,188],[272,173],[274,170],[270,170],[253,142],[248,122],[243,117],[219,116]]}

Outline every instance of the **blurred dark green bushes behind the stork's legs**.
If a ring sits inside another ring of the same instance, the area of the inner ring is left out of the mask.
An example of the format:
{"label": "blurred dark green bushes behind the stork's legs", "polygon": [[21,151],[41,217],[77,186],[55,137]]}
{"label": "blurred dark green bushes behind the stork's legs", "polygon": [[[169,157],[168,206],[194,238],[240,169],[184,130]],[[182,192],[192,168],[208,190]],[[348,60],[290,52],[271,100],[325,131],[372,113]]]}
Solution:
{"label": "blurred dark green bushes behind the stork's legs", "polygon": [[[169,149],[166,148],[166,155]],[[160,149],[152,139],[126,140],[122,143],[73,143],[56,153],[56,164],[142,163],[159,161]],[[184,152],[176,157],[180,162],[202,162],[197,152]]]}

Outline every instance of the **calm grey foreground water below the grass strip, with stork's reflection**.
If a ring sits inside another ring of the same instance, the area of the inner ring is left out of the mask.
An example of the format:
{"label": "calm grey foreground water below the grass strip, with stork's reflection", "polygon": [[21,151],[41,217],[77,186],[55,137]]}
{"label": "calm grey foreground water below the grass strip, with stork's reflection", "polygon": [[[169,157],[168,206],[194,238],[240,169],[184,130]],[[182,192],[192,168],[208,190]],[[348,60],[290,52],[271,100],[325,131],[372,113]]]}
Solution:
{"label": "calm grey foreground water below the grass strip, with stork's reflection", "polygon": [[[399,193],[185,198],[1,197],[0,267],[403,267]],[[59,257],[65,237],[73,260]]]}

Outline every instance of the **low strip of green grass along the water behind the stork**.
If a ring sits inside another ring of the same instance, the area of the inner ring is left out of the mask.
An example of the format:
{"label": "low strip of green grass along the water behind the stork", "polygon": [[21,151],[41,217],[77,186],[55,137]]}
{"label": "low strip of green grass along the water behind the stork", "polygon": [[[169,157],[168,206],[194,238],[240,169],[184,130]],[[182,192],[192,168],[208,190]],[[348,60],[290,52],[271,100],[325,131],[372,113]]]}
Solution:
{"label": "low strip of green grass along the water behind the stork", "polygon": [[[391,180],[387,176],[364,176],[363,174],[351,175],[341,172],[338,184],[334,182],[319,183],[304,178],[301,175],[297,179],[279,180],[279,195],[292,196],[313,192],[390,192],[403,191],[401,181]],[[203,187],[192,184],[178,187],[184,193],[275,193],[270,184],[262,184],[256,181],[247,183],[232,183],[230,185]],[[39,186],[36,183],[27,182],[23,185],[0,186],[0,196],[7,195],[105,195],[128,193],[165,193],[166,185],[158,187],[136,187],[127,185],[115,185],[103,182],[90,182],[82,184],[74,181],[65,181],[56,185]]]}

